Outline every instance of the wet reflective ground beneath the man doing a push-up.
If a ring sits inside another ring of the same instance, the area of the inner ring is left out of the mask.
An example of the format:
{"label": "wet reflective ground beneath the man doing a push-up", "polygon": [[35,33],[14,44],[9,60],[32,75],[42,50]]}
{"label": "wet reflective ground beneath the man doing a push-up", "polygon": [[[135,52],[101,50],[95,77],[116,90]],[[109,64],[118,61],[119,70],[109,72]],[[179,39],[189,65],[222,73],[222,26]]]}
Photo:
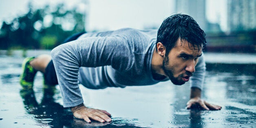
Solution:
{"label": "wet reflective ground beneath the man doing a push-up", "polygon": [[88,107],[107,110],[113,121],[87,123],[63,108],[59,86],[42,88],[42,74],[33,90],[20,90],[22,57],[0,56],[1,128],[221,128],[256,126],[255,64],[208,64],[203,99],[222,110],[186,110],[188,84],[163,82],[152,86],[90,90],[81,86]]}

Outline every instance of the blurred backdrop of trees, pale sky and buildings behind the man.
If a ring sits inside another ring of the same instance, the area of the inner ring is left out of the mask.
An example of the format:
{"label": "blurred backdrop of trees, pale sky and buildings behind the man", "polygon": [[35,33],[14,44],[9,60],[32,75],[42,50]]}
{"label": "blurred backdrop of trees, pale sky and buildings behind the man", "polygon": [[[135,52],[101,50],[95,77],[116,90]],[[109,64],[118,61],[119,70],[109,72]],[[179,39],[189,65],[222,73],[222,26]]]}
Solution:
{"label": "blurred backdrop of trees, pale sky and buildings behind the man", "polygon": [[256,53],[256,0],[0,0],[0,50],[51,50],[81,31],[158,29],[175,13],[207,35],[206,52]]}

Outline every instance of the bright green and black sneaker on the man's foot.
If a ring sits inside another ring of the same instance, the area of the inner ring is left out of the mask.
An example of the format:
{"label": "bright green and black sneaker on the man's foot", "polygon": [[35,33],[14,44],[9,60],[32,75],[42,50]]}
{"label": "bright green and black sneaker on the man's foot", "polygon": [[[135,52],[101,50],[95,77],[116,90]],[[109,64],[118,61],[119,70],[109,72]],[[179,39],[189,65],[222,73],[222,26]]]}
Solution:
{"label": "bright green and black sneaker on the man's foot", "polygon": [[22,73],[20,74],[20,85],[22,89],[28,90],[33,88],[35,73],[37,72],[30,64],[35,57],[26,57],[22,63]]}

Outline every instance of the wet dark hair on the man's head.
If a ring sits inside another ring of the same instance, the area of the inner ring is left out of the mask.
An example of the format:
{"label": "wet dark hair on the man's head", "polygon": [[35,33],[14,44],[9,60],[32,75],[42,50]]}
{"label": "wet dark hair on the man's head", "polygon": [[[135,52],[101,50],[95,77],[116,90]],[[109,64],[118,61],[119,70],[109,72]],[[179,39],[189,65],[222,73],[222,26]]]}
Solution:
{"label": "wet dark hair on the man's head", "polygon": [[156,44],[161,42],[168,54],[179,38],[188,40],[194,48],[205,49],[205,33],[189,15],[176,14],[166,18],[158,29]]}

